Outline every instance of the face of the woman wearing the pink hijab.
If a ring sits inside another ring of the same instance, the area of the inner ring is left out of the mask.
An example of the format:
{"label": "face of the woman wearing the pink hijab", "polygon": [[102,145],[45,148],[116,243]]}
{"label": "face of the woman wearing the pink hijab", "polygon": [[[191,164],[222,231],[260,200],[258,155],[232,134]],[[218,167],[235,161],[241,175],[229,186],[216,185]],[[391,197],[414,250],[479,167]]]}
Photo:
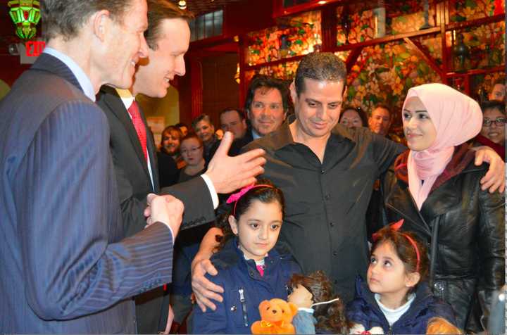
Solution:
{"label": "face of the woman wearing the pink hijab", "polygon": [[408,148],[423,151],[430,148],[437,138],[437,129],[427,113],[423,101],[417,96],[408,98],[403,109],[403,132]]}

